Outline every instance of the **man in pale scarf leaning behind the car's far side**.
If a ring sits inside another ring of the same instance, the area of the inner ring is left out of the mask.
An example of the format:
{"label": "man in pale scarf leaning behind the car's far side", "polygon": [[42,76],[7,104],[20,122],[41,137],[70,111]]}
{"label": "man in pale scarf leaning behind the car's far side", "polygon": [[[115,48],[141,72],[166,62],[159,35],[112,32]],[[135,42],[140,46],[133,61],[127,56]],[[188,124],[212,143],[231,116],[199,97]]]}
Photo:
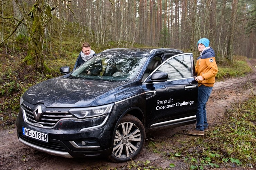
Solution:
{"label": "man in pale scarf leaning behind the car's far side", "polygon": [[90,60],[95,55],[95,52],[91,50],[91,45],[88,42],[85,42],[82,44],[82,51],[80,52],[74,69],[79,67],[81,64],[83,64],[85,61]]}

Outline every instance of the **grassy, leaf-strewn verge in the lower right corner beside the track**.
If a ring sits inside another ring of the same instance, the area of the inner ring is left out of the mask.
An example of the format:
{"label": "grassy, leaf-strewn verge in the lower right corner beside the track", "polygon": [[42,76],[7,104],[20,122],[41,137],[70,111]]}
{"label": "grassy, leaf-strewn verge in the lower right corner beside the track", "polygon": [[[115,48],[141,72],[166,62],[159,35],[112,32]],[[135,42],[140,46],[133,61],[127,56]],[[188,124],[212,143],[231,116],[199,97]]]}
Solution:
{"label": "grassy, leaf-strewn verge in the lower right corner beside the track", "polygon": [[234,104],[227,111],[226,124],[215,127],[206,138],[188,142],[200,147],[185,156],[190,169],[256,167],[255,103],[256,97],[252,96],[244,103]]}

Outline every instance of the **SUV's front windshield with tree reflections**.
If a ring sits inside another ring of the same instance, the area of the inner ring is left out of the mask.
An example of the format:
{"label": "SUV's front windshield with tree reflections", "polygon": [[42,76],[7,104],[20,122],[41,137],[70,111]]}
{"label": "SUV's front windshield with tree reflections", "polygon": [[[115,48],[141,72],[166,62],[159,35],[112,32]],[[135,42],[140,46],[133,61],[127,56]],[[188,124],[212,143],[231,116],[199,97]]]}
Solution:
{"label": "SUV's front windshield with tree reflections", "polygon": [[145,57],[134,54],[99,54],[76,68],[68,78],[131,81],[145,61]]}

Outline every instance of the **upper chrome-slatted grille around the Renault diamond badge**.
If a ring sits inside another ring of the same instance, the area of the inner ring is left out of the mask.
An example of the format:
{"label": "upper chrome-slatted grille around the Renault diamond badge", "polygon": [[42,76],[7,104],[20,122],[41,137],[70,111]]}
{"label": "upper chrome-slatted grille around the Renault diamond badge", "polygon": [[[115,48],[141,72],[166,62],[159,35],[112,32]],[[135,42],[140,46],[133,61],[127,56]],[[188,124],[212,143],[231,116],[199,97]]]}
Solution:
{"label": "upper chrome-slatted grille around the Renault diamond badge", "polygon": [[24,116],[27,123],[45,128],[54,127],[54,125],[60,119],[73,117],[73,115],[68,113],[68,111],[45,111],[44,113],[42,113],[42,117],[40,118],[40,120],[37,121],[34,117],[32,109],[29,106],[22,104],[21,109],[25,113]]}

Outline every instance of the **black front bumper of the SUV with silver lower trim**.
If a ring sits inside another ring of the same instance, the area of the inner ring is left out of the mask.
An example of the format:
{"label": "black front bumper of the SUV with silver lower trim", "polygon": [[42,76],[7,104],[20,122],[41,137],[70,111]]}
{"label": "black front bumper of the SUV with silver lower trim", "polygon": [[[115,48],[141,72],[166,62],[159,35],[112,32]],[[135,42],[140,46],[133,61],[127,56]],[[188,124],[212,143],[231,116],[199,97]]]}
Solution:
{"label": "black front bumper of the SUV with silver lower trim", "polygon": [[[26,122],[25,113],[20,109],[16,120],[17,136],[20,142],[38,151],[66,158],[106,157],[111,154],[113,126],[110,122],[115,117],[107,115],[98,119],[77,121],[74,118],[58,121],[53,128],[42,128]],[[90,130],[88,124],[101,121],[104,125],[96,125]],[[85,125],[86,124],[86,125]],[[25,136],[22,127],[48,134],[48,142]],[[80,131],[88,128],[89,130]],[[84,142],[85,145],[82,145]]]}

